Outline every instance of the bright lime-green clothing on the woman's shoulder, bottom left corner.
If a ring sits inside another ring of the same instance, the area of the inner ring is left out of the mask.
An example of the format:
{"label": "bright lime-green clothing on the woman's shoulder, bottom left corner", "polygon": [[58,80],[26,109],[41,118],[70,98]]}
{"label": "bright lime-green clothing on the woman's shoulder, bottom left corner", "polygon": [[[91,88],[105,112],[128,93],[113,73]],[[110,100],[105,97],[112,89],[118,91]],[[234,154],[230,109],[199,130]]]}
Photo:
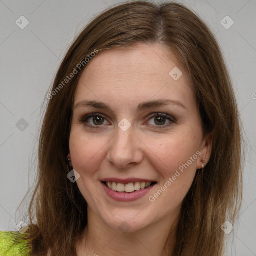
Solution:
{"label": "bright lime-green clothing on the woman's shoulder, bottom left corner", "polygon": [[26,234],[14,231],[0,231],[0,255],[1,256],[30,256]]}

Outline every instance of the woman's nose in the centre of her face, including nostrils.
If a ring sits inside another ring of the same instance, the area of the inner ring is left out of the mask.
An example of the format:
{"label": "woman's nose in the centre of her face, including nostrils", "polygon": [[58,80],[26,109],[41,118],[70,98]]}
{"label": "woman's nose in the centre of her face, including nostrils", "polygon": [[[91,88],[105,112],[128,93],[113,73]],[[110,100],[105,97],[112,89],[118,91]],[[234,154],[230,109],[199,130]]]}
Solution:
{"label": "woman's nose in the centre of her face, including nostrils", "polygon": [[142,161],[143,143],[135,135],[133,125],[126,131],[117,127],[116,134],[109,142],[110,145],[106,158],[116,168],[127,169]]}

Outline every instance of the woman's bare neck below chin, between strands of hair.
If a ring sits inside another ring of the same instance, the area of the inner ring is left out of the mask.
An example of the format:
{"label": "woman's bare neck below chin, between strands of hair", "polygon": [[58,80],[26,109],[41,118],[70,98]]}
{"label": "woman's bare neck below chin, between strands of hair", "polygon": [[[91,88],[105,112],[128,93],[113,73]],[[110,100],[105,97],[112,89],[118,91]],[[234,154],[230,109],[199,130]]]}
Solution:
{"label": "woman's bare neck below chin, between strands of hair", "polygon": [[177,221],[162,219],[138,231],[123,233],[108,227],[96,214],[91,216],[88,210],[88,225],[76,244],[77,255],[169,256],[175,244],[174,223]]}

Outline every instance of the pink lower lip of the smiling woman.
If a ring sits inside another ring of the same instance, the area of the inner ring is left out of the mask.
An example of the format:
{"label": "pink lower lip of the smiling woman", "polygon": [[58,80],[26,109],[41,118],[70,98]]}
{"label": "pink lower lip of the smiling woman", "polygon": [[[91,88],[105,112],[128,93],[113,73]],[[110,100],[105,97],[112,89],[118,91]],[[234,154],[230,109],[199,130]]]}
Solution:
{"label": "pink lower lip of the smiling woman", "polygon": [[117,192],[112,189],[110,189],[108,186],[106,186],[103,182],[101,182],[106,194],[111,197],[112,199],[116,201],[122,201],[122,202],[130,202],[130,201],[135,201],[141,197],[143,197],[145,194],[147,194],[152,187],[155,185],[151,185],[147,188],[140,189],[131,193],[127,192]]}

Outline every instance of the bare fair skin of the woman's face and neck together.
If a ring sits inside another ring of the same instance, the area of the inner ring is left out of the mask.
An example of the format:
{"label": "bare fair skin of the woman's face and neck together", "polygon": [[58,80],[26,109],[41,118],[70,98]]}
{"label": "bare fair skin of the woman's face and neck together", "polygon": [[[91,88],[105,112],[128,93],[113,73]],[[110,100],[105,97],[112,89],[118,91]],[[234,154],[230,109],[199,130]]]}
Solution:
{"label": "bare fair skin of the woman's face and neck together", "polygon": [[[169,75],[174,67],[183,73],[178,80]],[[185,108],[168,104],[136,110],[141,102],[158,99],[176,100]],[[76,106],[82,100],[104,102],[111,111]],[[100,125],[93,117],[80,121],[95,112],[104,117]],[[151,113],[166,113],[176,121],[163,118],[159,125]],[[126,131],[118,126],[123,118],[131,123]],[[88,202],[88,226],[77,242],[78,255],[170,255],[182,200],[196,169],[209,159],[210,142],[209,135],[203,137],[192,86],[167,48],[139,44],[98,53],[75,90],[69,141],[72,165],[80,174],[77,185]],[[189,167],[149,201],[197,151],[200,155]],[[144,178],[157,184],[142,198],[120,202],[102,187],[100,180],[109,177]],[[128,223],[127,233],[118,228],[123,221]]]}

